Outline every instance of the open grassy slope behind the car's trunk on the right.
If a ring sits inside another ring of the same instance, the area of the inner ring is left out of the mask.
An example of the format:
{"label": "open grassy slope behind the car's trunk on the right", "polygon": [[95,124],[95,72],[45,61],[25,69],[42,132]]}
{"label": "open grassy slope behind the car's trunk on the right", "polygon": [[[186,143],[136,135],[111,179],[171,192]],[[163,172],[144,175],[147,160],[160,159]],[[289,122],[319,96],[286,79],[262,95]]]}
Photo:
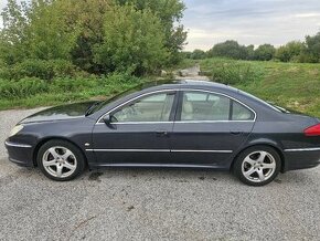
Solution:
{"label": "open grassy slope behind the car's trunk on the right", "polygon": [[[216,82],[231,84],[279,106],[320,117],[320,64],[209,59],[199,63]],[[226,80],[226,81],[225,81]]]}

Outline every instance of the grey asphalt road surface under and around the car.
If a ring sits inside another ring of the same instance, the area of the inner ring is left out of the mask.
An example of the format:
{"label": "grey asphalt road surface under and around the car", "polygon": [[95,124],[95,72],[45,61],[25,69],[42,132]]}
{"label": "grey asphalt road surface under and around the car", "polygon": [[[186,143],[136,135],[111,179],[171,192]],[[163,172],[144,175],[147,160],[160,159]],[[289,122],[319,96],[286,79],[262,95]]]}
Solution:
{"label": "grey asphalt road surface under and around the car", "polygon": [[[30,111],[0,112],[0,142]],[[0,147],[0,240],[320,240],[320,168],[253,188],[228,172],[113,168],[54,182]]]}

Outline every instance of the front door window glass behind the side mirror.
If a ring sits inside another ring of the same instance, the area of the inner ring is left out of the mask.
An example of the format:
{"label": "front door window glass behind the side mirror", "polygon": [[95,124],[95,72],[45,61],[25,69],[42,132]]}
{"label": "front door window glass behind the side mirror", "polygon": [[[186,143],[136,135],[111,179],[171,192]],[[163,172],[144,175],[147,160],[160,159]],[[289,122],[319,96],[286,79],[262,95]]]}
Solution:
{"label": "front door window glass behind the side mirror", "polygon": [[168,122],[174,99],[174,93],[153,94],[141,97],[117,109],[113,122]]}

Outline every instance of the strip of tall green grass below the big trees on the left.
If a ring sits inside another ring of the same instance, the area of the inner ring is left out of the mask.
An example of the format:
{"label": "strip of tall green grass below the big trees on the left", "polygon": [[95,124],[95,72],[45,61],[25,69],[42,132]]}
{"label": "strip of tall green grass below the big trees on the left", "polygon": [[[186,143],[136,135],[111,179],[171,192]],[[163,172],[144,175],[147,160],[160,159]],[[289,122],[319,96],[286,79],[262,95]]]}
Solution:
{"label": "strip of tall green grass below the big trees on the left", "polygon": [[0,80],[0,109],[52,106],[87,99],[104,99],[145,80],[124,74],[43,81]]}

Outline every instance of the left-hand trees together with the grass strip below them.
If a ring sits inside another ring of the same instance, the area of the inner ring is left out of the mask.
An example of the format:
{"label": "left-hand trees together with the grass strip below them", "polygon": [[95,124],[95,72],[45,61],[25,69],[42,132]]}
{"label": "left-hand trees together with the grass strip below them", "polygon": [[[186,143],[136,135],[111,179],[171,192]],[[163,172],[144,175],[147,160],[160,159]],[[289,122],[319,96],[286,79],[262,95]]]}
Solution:
{"label": "left-hand trees together with the grass strip below them", "polygon": [[180,0],[8,0],[0,109],[104,98],[182,60]]}

